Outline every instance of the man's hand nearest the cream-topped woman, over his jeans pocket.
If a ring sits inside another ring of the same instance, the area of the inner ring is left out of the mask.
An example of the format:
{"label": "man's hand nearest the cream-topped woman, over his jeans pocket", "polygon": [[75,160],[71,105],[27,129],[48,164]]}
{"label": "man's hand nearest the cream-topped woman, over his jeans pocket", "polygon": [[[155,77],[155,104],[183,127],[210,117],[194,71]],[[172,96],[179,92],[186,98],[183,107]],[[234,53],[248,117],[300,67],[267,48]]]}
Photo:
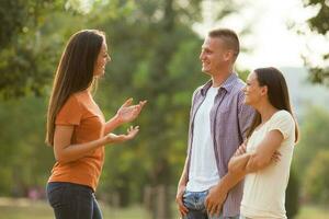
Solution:
{"label": "man's hand nearest the cream-topped woman, over his jeans pocket", "polygon": [[219,215],[222,206],[226,199],[227,193],[222,192],[217,186],[209,189],[209,193],[205,199],[205,207],[209,216]]}

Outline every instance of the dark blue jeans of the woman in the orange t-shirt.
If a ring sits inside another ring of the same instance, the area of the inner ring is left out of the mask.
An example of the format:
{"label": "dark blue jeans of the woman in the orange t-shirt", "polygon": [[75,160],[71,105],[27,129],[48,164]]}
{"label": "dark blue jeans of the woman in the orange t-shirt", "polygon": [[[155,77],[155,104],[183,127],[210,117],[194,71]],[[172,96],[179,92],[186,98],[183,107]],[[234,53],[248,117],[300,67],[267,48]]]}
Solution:
{"label": "dark blue jeans of the woman in the orange t-shirt", "polygon": [[47,197],[56,219],[102,219],[93,189],[86,185],[52,182]]}

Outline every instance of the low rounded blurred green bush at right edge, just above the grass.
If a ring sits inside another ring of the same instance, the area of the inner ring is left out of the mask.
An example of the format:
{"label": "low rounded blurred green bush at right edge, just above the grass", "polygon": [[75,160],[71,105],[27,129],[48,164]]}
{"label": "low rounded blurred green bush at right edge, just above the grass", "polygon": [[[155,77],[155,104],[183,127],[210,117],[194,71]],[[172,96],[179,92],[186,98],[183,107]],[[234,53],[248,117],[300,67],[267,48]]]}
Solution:
{"label": "low rounded blurred green bush at right edge, just above the grass", "polygon": [[306,171],[305,189],[314,203],[329,204],[329,150],[320,150]]}

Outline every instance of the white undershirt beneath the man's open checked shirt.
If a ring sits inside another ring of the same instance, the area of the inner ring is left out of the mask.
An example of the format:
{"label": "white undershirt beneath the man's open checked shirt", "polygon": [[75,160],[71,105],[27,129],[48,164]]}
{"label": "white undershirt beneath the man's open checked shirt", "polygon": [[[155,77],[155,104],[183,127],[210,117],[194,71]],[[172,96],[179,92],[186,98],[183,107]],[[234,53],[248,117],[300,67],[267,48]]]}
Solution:
{"label": "white undershirt beneath the man's open checked shirt", "polygon": [[189,182],[186,189],[203,192],[219,181],[216,165],[214,142],[211,135],[211,110],[218,88],[209,88],[206,97],[196,112],[194,119],[193,141]]}

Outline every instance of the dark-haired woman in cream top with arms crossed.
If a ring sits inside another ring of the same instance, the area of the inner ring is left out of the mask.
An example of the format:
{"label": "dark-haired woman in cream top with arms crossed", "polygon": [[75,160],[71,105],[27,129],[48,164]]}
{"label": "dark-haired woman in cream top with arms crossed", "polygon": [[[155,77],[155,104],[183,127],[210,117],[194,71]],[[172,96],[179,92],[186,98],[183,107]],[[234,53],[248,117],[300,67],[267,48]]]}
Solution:
{"label": "dark-haired woman in cream top with arms crossed", "polygon": [[228,166],[230,173],[246,174],[241,218],[286,218],[285,189],[298,128],[285,79],[275,68],[256,69],[245,94],[257,115]]}

